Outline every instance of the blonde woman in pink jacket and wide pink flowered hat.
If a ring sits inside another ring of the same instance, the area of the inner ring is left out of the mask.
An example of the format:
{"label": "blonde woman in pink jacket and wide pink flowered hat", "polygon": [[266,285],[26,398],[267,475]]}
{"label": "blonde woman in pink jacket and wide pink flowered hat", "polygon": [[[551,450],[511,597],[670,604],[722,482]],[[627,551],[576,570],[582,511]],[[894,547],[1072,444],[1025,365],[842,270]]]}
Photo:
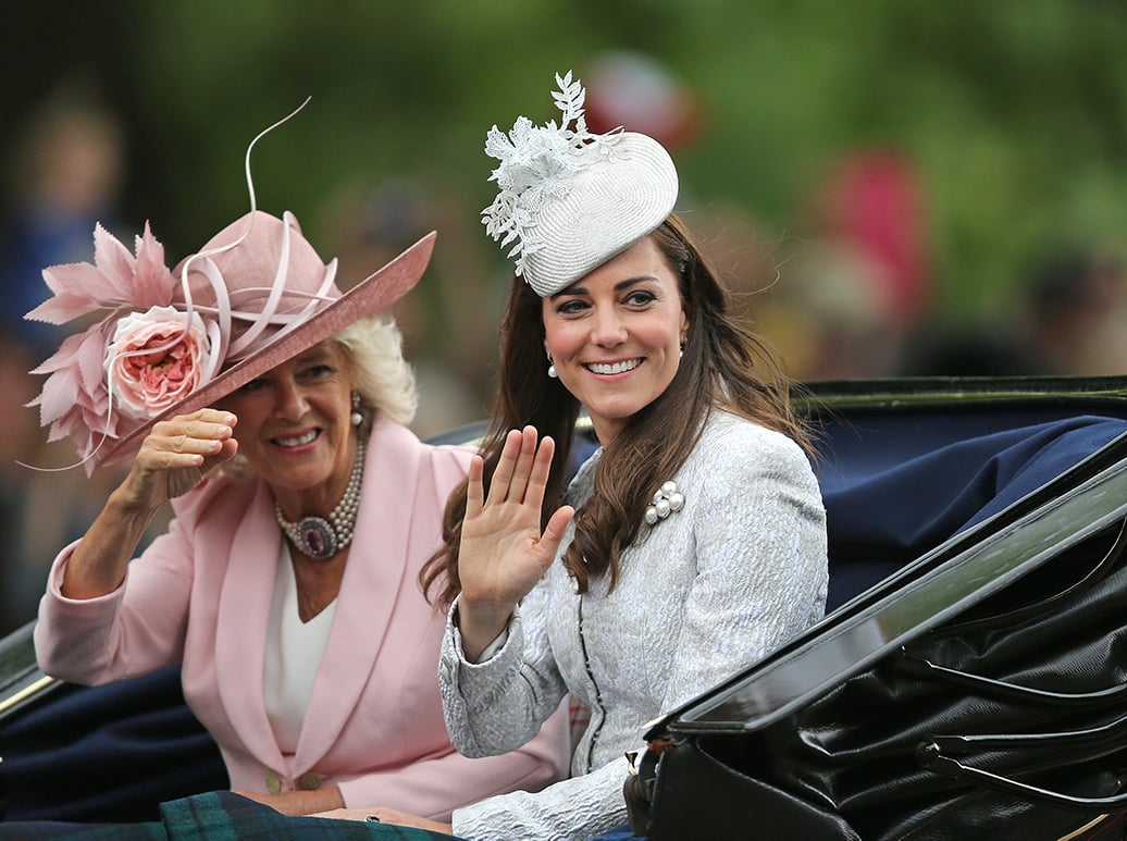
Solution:
{"label": "blonde woman in pink jacket and wide pink flowered hat", "polygon": [[[290,214],[243,216],[176,272],[137,241],[99,229],[97,265],[50,269],[55,298],[30,313],[110,309],[39,369],[41,404],[88,467],[132,457],[52,567],[43,670],[101,683],[181,662],[232,788],[286,814],[396,802],[445,821],[558,779],[562,714],[488,760],[443,724],[444,619],[417,576],[470,455],[406,428],[411,372],[378,313],[431,238],[345,294]],[[166,503],[168,532],[131,560]]]}

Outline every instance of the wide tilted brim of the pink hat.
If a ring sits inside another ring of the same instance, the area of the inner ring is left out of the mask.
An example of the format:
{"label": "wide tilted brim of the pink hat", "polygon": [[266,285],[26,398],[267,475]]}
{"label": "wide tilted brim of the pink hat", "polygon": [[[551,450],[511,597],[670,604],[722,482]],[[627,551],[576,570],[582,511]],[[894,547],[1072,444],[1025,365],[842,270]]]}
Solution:
{"label": "wide tilted brim of the pink hat", "polygon": [[348,325],[393,304],[419,282],[431,262],[436,237],[437,233],[431,231],[385,266],[310,317],[301,327],[279,336],[260,351],[241,360],[124,437],[117,441],[107,440],[92,457],[96,464],[105,467],[123,461],[140,449],[141,441],[149,434],[153,424],[211,406],[256,377],[261,377]]}

